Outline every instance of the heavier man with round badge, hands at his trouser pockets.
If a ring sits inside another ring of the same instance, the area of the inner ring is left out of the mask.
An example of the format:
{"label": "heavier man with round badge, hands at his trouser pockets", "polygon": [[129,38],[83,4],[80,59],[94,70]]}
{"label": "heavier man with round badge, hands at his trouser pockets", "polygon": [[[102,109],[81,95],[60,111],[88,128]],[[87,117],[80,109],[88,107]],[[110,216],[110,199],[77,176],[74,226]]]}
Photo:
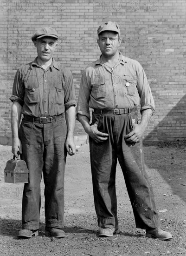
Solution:
{"label": "heavier man with round badge, hands at his trouser pockets", "polygon": [[[124,175],[137,228],[146,236],[168,240],[160,228],[152,185],[145,171],[141,142],[154,112],[154,100],[138,61],[124,57],[116,22],[101,25],[97,34],[102,55],[83,71],[77,103],[77,120],[90,139],[90,163],[99,236],[119,232],[115,172],[117,160]],[[141,105],[141,122],[137,106]],[[92,123],[90,111],[93,109]]]}

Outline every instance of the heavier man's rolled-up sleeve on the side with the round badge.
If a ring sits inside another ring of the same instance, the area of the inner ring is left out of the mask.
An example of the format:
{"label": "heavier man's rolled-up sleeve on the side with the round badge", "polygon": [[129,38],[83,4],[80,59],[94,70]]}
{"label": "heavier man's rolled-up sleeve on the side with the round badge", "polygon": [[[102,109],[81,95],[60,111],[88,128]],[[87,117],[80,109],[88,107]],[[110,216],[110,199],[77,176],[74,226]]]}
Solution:
{"label": "heavier man's rolled-up sleeve on the side with the round badge", "polygon": [[148,108],[150,108],[154,111],[155,105],[154,105],[153,95],[152,95],[150,86],[148,84],[148,79],[145,74],[145,71],[143,70],[143,68],[141,67],[140,64],[139,64],[139,68],[138,68],[137,77],[138,77],[137,89],[138,89],[138,93],[141,98],[140,111],[142,112],[143,110],[148,109]]}

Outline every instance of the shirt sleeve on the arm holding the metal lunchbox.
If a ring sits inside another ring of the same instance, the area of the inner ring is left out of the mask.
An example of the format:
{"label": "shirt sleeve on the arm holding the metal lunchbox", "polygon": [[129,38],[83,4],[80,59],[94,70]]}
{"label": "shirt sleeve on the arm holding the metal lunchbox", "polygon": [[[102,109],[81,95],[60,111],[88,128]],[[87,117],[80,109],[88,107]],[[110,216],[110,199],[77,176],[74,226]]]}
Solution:
{"label": "shirt sleeve on the arm holding the metal lunchbox", "polygon": [[15,78],[13,81],[13,92],[12,96],[10,97],[11,101],[18,101],[21,106],[24,104],[24,83],[22,79],[22,74],[20,73],[19,69],[15,74]]}

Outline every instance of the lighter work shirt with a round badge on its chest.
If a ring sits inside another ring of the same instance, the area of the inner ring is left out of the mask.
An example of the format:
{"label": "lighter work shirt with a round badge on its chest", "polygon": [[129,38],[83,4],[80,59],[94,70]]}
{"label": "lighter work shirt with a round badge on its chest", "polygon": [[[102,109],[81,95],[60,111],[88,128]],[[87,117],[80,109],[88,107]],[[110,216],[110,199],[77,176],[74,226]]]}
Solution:
{"label": "lighter work shirt with a round badge on its chest", "polygon": [[83,71],[77,103],[77,114],[90,119],[89,108],[134,108],[141,103],[141,111],[151,108],[154,99],[146,74],[138,61],[124,57],[113,68],[99,60]]}

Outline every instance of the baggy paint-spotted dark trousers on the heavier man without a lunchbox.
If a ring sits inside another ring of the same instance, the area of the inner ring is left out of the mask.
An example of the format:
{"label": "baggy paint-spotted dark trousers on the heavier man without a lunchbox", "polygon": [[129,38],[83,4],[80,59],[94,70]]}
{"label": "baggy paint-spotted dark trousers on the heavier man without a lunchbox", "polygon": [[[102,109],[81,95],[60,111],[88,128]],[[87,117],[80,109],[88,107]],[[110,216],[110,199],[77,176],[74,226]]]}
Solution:
{"label": "baggy paint-spotted dark trousers on the heavier man without a lunchbox", "polygon": [[131,145],[124,136],[133,129],[137,113],[122,115],[94,114],[92,124],[109,134],[108,140],[96,143],[90,137],[90,162],[98,226],[118,228],[115,172],[117,159],[122,168],[137,228],[160,226],[154,192],[145,171],[142,142]]}

